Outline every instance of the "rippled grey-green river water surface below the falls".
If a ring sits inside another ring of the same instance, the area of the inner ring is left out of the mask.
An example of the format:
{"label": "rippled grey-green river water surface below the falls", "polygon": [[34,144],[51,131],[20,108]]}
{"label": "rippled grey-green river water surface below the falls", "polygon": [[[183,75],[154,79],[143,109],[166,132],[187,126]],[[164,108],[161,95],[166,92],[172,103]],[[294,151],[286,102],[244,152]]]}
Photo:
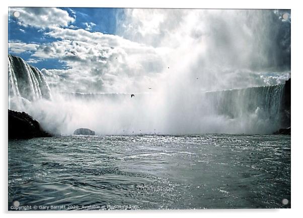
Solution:
{"label": "rippled grey-green river water surface below the falls", "polygon": [[10,140],[9,209],[15,200],[38,209],[288,208],[290,137]]}

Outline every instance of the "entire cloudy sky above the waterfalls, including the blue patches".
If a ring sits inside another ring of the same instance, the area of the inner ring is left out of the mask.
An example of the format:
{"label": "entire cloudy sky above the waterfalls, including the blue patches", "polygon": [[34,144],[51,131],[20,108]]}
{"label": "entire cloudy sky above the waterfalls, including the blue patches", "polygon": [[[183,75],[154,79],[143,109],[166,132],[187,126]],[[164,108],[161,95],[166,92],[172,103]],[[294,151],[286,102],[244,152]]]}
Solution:
{"label": "entire cloudy sky above the waterfalls, including the blue patches", "polygon": [[9,53],[68,92],[271,85],[290,77],[290,11],[10,8]]}

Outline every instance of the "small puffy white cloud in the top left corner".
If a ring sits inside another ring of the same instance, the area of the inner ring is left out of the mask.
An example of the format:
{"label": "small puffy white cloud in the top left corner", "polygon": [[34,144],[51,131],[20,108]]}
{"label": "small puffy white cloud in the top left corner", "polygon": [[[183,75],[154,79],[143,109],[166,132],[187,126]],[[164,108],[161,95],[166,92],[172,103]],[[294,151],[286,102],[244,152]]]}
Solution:
{"label": "small puffy white cloud in the top left corner", "polygon": [[66,11],[57,8],[10,8],[10,14],[15,11],[20,13],[18,24],[24,27],[66,27],[75,21]]}

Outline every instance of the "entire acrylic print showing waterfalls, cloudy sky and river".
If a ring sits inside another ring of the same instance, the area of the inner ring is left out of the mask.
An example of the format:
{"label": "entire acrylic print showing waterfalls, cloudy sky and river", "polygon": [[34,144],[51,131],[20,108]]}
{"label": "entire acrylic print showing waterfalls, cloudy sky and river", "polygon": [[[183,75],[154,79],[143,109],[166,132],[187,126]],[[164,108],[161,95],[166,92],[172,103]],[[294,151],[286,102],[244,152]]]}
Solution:
{"label": "entire acrylic print showing waterfalls, cloudy sky and river", "polygon": [[290,24],[10,7],[9,210],[290,208]]}

